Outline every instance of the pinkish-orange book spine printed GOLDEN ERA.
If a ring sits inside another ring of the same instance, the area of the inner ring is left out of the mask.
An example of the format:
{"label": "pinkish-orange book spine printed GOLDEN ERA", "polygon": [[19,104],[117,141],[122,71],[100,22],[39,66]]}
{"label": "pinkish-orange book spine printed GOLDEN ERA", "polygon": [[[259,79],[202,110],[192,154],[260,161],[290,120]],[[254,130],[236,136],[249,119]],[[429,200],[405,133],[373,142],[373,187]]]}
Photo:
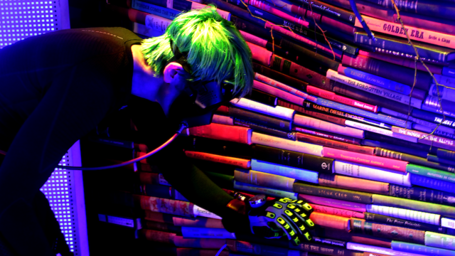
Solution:
{"label": "pinkish-orange book spine printed GOLDEN ERA", "polygon": [[[362,16],[368,27],[372,31],[378,31],[380,33],[386,33],[392,36],[399,36],[406,38],[405,31],[402,29],[400,24],[382,21],[378,18],[372,18],[368,16]],[[355,26],[362,28],[362,24],[356,18]],[[444,46],[447,48],[455,49],[455,36],[436,31],[429,31],[426,29],[416,28],[412,26],[405,26],[407,34],[411,40],[421,41],[425,43],[431,43],[435,46]]]}

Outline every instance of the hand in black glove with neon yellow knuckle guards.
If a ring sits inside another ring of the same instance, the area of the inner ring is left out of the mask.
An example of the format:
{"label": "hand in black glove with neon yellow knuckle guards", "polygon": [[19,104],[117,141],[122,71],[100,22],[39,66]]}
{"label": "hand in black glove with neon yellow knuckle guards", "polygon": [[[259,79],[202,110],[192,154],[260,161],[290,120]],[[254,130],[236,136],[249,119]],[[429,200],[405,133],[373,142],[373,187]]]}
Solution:
{"label": "hand in black glove with neon yellow knuckle guards", "polygon": [[280,198],[267,201],[259,208],[250,208],[247,213],[251,232],[264,238],[281,238],[287,235],[294,245],[302,240],[311,240],[309,230],[314,223],[309,219],[313,208],[302,200]]}

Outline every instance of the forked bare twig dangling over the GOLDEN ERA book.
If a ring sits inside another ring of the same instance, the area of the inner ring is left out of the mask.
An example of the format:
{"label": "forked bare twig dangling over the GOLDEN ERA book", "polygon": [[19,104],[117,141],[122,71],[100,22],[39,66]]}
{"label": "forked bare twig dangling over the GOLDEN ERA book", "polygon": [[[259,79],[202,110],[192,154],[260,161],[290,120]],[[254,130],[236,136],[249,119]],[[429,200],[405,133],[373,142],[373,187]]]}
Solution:
{"label": "forked bare twig dangling over the GOLDEN ERA book", "polygon": [[[411,38],[410,38],[410,36],[407,33],[407,29],[405,29],[405,24],[403,23],[403,21],[401,19],[400,11],[398,10],[397,4],[395,4],[395,0],[391,0],[391,1],[392,1],[392,4],[393,4],[393,7],[395,9],[395,12],[397,13],[397,19],[400,21],[402,30],[405,31],[407,42],[410,43],[412,48],[414,48],[414,52],[415,52],[415,60],[414,60],[414,63],[415,63],[414,64],[414,70],[415,70],[415,72],[414,72],[414,84],[412,85],[412,90],[414,90],[414,86],[415,86],[416,79],[417,79],[417,60],[420,60],[420,63],[422,63],[422,65],[424,65],[425,69],[427,69],[429,75],[432,76],[432,78],[434,80],[434,83],[436,84],[436,91],[437,91],[437,97],[438,97],[438,102],[439,102],[439,109],[441,110],[443,119],[442,119],[442,121],[439,124],[437,124],[436,127],[434,127],[434,129],[433,129],[433,131],[431,133],[425,135],[422,138],[418,138],[418,139],[426,139],[430,135],[434,134],[434,132],[436,132],[436,130],[438,129],[439,125],[441,125],[442,123],[444,123],[444,121],[446,121],[446,115],[444,114],[444,110],[442,110],[442,102],[441,102],[441,97],[440,97],[440,94],[439,94],[439,86],[443,86],[443,87],[446,87],[446,88],[450,88],[450,87],[447,87],[445,85],[439,84],[439,82],[436,80],[436,78],[434,78],[434,75],[433,75],[432,71],[429,70],[427,65],[425,65],[424,61],[422,60],[422,58],[420,58],[419,51],[414,46],[414,43],[412,43]],[[450,89],[453,89],[453,88],[450,88]],[[412,94],[411,94],[411,97],[412,97]],[[411,98],[410,98],[410,104],[411,104]],[[408,110],[408,118],[409,118],[409,115],[410,115],[410,111]],[[407,127],[406,127],[406,129],[407,129]],[[432,141],[432,144],[433,144],[433,141]]]}

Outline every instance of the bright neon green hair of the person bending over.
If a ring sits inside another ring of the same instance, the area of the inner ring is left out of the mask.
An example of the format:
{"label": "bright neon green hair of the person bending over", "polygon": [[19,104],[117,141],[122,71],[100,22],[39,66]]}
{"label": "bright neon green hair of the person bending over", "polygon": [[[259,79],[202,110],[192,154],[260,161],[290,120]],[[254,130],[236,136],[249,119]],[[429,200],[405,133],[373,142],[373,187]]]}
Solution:
{"label": "bright neon green hair of the person bending over", "polygon": [[251,50],[232,22],[217,13],[215,6],[177,16],[156,38],[142,41],[141,50],[155,76],[163,75],[168,63],[175,61],[170,41],[187,53],[193,81],[215,80],[233,85],[235,97],[250,92],[253,82]]}

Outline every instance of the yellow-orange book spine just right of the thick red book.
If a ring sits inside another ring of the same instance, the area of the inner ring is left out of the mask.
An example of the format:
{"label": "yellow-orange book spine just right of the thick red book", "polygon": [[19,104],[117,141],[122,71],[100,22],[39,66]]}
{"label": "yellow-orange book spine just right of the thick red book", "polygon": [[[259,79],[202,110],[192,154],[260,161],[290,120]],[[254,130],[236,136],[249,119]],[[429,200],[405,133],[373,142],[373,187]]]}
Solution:
{"label": "yellow-orange book spine just right of the thick red book", "polygon": [[308,144],[305,142],[295,142],[289,139],[269,136],[267,134],[259,134],[257,132],[252,133],[251,141],[254,144],[272,146],[279,149],[287,149],[304,154],[312,154],[314,156],[322,156],[322,146]]}

